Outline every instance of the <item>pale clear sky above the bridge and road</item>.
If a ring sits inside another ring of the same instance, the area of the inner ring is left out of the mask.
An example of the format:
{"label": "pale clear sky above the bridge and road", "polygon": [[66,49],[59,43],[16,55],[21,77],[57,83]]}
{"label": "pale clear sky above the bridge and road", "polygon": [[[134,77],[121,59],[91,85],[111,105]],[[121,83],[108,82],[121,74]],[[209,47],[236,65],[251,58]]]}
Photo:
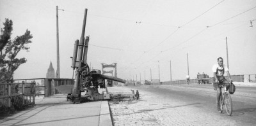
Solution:
{"label": "pale clear sky above the bridge and road", "polygon": [[190,78],[202,72],[212,76],[218,57],[227,64],[227,37],[230,74],[256,74],[255,0],[0,0],[0,28],[9,18],[12,39],[26,29],[33,34],[29,52],[17,56],[28,61],[14,79],[45,78],[50,62],[56,71],[56,6],[61,78],[72,78],[70,57],[85,8],[93,69],[116,62],[118,78],[150,80],[151,69],[152,79],[160,73],[161,81],[169,81],[172,66],[172,80],[183,80],[189,61]]}

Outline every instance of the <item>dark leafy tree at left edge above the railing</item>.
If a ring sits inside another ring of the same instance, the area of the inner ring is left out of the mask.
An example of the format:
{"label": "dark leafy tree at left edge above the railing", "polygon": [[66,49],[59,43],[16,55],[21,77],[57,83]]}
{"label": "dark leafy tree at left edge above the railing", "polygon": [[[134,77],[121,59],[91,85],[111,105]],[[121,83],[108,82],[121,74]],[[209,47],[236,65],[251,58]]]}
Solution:
{"label": "dark leafy tree at left edge above the railing", "polygon": [[22,36],[17,36],[11,40],[13,30],[13,22],[8,18],[3,23],[4,28],[1,28],[0,35],[0,82],[10,82],[13,80],[13,73],[21,64],[26,63],[26,59],[17,58],[17,54],[21,50],[29,52],[29,43],[32,43],[32,34],[28,29]]}

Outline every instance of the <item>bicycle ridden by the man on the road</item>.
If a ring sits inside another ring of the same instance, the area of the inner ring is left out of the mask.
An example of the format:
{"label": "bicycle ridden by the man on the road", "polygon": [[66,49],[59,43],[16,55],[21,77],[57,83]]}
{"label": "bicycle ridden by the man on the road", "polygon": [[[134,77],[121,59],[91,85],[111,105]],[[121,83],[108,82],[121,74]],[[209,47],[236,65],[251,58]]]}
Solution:
{"label": "bicycle ridden by the man on the road", "polygon": [[[231,84],[232,82],[228,83],[229,85]],[[230,93],[228,92],[227,88],[226,88],[226,85],[223,86],[223,84],[227,84],[227,83],[221,83],[221,87],[224,87],[224,92],[223,94],[221,94],[221,97],[220,97],[220,113],[222,113],[223,111],[223,106],[225,105],[225,108],[226,108],[226,112],[229,116],[232,115],[232,111],[233,111],[233,108],[232,108],[232,99],[231,99],[231,95]]]}

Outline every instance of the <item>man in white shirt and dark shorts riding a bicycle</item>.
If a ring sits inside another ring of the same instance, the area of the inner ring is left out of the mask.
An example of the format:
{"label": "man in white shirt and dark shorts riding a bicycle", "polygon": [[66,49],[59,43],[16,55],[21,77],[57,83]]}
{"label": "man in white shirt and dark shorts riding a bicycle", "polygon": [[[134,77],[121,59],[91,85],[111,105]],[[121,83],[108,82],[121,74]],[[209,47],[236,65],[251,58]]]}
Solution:
{"label": "man in white shirt and dark shorts riding a bicycle", "polygon": [[218,64],[214,64],[214,66],[212,66],[212,72],[214,76],[213,87],[214,90],[217,90],[217,109],[218,111],[220,111],[221,85],[224,83],[227,89],[229,88],[228,81],[225,79],[224,73],[226,72],[229,80],[232,80],[229,74],[228,67],[223,64],[223,59],[221,57],[218,58]]}

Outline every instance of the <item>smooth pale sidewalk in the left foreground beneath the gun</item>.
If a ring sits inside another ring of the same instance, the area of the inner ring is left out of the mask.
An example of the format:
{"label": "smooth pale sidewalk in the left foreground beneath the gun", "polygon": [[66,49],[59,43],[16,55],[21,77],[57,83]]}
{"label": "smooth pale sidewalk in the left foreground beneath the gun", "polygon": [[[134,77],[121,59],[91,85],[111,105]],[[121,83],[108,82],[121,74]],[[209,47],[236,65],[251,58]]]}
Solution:
{"label": "smooth pale sidewalk in the left foreground beneath the gun", "polygon": [[112,125],[108,101],[72,104],[66,94],[38,100],[34,108],[0,120],[0,125]]}

